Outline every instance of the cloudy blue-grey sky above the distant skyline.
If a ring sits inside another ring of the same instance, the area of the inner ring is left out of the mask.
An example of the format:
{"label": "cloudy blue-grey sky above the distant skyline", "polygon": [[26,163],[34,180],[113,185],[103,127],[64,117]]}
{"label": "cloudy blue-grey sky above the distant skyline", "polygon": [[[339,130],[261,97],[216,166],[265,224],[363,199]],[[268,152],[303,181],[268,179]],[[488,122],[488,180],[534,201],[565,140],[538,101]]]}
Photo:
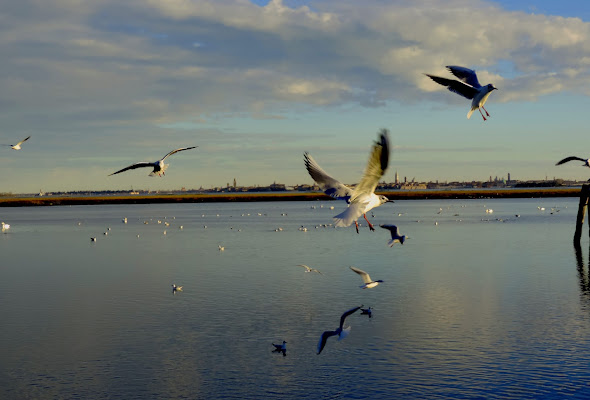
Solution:
{"label": "cloudy blue-grey sky above the distant skyline", "polygon": [[0,54],[0,193],[311,184],[306,151],[355,183],[381,128],[387,182],[590,174],[555,166],[590,156],[582,1],[5,0]]}

